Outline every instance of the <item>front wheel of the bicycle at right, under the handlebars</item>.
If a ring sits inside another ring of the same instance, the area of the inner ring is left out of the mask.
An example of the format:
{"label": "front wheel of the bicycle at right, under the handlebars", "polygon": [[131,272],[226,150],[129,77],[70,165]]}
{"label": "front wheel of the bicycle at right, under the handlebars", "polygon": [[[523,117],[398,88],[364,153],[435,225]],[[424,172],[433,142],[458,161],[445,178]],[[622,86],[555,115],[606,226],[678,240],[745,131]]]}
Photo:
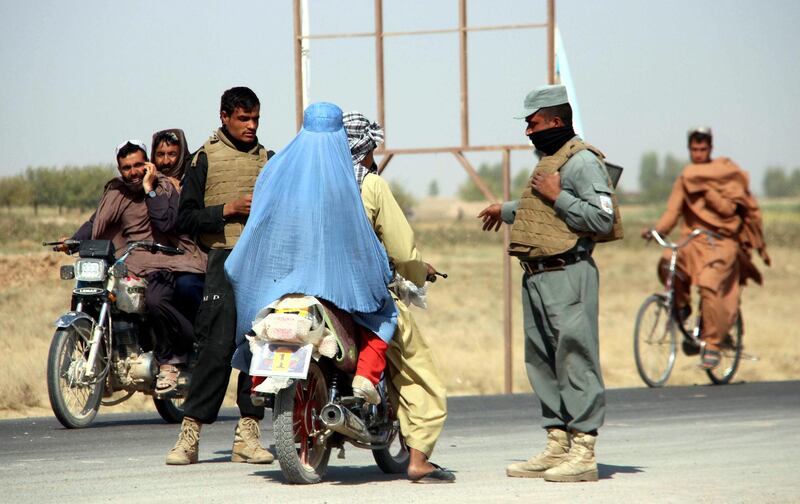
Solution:
{"label": "front wheel of the bicycle at right, under the handlebars", "polygon": [[642,303],[633,330],[636,369],[648,387],[661,387],[675,366],[675,324],[662,296],[653,294]]}

